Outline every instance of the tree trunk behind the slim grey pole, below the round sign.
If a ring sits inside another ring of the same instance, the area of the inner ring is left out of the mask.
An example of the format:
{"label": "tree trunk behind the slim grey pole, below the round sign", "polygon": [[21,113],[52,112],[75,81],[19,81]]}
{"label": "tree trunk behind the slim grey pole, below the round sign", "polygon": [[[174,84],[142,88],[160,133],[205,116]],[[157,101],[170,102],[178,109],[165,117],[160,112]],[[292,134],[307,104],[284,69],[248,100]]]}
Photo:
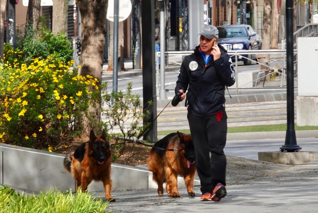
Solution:
{"label": "tree trunk behind the slim grey pole, below the round sign", "polygon": [[[109,23],[110,39],[109,39],[109,58],[107,71],[113,71],[114,60],[114,22]],[[118,57],[120,57],[120,63],[118,63],[118,70],[125,71],[124,66],[124,22],[118,23]]]}

